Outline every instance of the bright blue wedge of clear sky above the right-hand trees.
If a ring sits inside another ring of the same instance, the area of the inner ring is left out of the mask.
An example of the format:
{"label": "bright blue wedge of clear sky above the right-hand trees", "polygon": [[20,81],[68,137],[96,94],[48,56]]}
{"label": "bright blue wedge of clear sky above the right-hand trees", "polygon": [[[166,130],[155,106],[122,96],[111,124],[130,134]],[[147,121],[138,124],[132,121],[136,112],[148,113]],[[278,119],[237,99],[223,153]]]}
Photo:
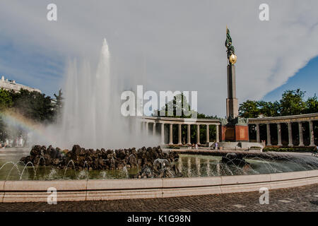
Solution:
{"label": "bright blue wedge of clear sky above the right-hand trees", "polygon": [[306,91],[305,99],[314,96],[315,93],[318,94],[318,57],[311,59],[305,67],[300,69],[295,76],[290,77],[285,84],[267,93],[263,100],[280,100],[285,90],[295,90],[298,88]]}

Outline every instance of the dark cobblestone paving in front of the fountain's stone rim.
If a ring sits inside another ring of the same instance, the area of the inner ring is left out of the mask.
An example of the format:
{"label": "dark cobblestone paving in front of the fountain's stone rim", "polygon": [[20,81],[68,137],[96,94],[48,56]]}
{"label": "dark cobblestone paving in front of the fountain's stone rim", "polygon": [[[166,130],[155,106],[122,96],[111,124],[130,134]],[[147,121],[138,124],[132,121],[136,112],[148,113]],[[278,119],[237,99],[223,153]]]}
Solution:
{"label": "dark cobblestone paving in front of the fountain's stone rim", "polygon": [[318,184],[269,191],[269,204],[259,204],[259,192],[178,198],[47,203],[0,203],[0,211],[318,211]]}

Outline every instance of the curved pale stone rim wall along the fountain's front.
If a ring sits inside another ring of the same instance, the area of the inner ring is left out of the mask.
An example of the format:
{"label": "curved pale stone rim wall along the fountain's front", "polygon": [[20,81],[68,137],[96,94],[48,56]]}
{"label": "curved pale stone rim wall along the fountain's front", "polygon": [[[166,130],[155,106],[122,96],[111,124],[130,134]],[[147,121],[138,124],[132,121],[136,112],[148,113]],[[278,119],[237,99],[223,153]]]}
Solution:
{"label": "curved pale stone rim wall along the fountain's front", "polygon": [[126,198],[167,198],[283,189],[318,183],[318,170],[222,177],[169,179],[93,179],[75,181],[1,181],[0,202],[47,201],[47,189],[57,189],[57,201],[98,201]]}

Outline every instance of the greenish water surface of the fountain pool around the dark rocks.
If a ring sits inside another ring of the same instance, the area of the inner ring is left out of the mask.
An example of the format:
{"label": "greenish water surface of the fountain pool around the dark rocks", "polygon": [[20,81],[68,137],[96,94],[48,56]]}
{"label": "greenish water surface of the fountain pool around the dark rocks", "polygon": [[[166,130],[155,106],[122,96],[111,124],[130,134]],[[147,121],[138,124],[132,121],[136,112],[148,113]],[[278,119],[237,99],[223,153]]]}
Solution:
{"label": "greenish water surface of the fountain pool around the dark rocks", "polygon": [[[73,162],[66,169],[39,165],[23,165],[20,157],[28,155],[28,150],[7,148],[0,151],[0,180],[51,180],[51,179],[119,179],[133,178],[140,169],[124,168],[111,170],[76,171]],[[269,174],[318,169],[318,158],[301,155],[288,160],[263,160],[259,157],[247,158],[249,165],[237,167],[220,163],[222,157],[211,155],[179,155],[177,168],[183,177],[211,177],[244,174]]]}

